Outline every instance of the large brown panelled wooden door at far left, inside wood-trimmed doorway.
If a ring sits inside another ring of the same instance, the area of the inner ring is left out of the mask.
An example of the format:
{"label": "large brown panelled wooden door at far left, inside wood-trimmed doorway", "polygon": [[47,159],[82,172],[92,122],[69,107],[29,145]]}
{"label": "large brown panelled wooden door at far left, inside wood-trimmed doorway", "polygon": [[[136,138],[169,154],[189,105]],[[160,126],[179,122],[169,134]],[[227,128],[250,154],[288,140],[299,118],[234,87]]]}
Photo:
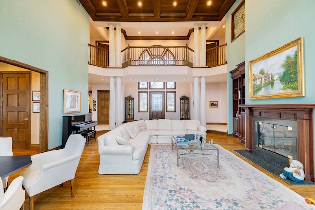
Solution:
{"label": "large brown panelled wooden door at far left, inside wood-trimmed doorway", "polygon": [[31,146],[31,72],[2,73],[4,137],[13,148]]}

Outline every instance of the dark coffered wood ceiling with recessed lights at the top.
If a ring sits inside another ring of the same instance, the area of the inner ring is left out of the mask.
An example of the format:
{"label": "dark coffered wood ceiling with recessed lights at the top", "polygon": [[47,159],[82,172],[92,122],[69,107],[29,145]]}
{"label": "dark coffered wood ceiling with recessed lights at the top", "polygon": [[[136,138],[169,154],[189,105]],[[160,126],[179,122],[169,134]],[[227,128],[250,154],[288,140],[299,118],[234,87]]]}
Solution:
{"label": "dark coffered wood ceiling with recessed lights at the top", "polygon": [[[138,6],[139,1],[142,6]],[[207,6],[208,1],[79,0],[92,20],[118,22],[221,21],[236,0],[210,0]]]}

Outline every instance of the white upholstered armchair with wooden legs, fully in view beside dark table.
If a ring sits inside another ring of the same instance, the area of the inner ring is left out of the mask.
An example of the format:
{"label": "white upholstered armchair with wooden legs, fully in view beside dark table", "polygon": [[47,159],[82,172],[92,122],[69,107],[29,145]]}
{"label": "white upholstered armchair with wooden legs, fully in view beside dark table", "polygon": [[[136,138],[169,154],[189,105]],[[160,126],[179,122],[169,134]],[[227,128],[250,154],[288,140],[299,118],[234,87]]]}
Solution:
{"label": "white upholstered armchair with wooden legs, fully in view beside dark table", "polygon": [[34,210],[34,196],[70,180],[71,195],[75,196],[74,176],[85,146],[86,139],[81,134],[69,136],[65,147],[33,155],[32,165],[21,175],[23,186],[30,196],[30,210]]}

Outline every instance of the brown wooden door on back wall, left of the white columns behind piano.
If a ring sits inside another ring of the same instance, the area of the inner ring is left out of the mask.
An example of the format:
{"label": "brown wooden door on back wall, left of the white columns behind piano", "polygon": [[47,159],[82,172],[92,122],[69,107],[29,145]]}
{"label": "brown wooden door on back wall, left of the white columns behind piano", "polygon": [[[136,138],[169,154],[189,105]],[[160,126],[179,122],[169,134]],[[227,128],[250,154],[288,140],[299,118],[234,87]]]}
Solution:
{"label": "brown wooden door on back wall, left of the white columns behind piano", "polygon": [[109,90],[98,90],[97,101],[98,124],[109,124]]}

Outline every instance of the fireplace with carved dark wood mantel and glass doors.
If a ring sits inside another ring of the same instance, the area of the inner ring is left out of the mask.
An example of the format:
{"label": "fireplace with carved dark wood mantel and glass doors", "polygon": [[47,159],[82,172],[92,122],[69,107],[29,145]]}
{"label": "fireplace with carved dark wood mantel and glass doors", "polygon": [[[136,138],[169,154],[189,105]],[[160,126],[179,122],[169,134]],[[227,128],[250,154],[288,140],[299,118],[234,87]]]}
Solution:
{"label": "fireplace with carved dark wood mantel and glass doors", "polygon": [[[293,159],[303,163],[305,180],[314,181],[313,108],[315,104],[259,104],[240,105],[240,107],[245,110],[245,150],[248,152],[276,150],[275,153],[279,155],[286,157],[291,155]],[[280,126],[283,126],[281,131]],[[261,136],[262,134],[258,132],[258,128],[261,127],[264,127],[264,133],[269,134]],[[267,128],[279,129],[266,131]]]}

